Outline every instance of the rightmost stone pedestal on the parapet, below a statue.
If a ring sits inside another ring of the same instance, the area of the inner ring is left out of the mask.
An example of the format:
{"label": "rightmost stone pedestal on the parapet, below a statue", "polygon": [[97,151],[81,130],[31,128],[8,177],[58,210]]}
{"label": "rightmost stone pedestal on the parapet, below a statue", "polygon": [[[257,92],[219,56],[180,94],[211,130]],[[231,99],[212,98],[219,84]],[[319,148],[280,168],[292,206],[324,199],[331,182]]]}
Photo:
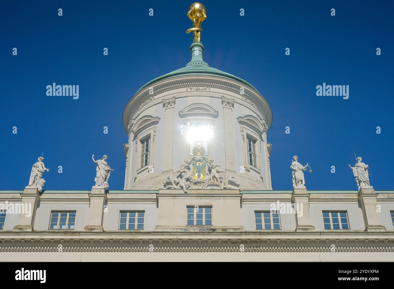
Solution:
{"label": "rightmost stone pedestal on the parapet, below a statue", "polygon": [[377,194],[372,186],[361,187],[359,189],[359,201],[362,215],[364,217],[365,231],[385,232],[386,227],[382,225],[380,215],[377,212]]}

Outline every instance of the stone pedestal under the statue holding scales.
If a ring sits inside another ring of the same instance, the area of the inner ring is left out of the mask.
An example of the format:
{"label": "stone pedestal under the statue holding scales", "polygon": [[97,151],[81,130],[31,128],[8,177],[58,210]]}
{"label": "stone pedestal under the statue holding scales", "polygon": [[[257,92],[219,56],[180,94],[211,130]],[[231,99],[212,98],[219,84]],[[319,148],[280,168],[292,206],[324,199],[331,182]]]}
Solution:
{"label": "stone pedestal under the statue holding scales", "polygon": [[292,202],[296,203],[296,208],[298,206],[301,210],[301,212],[297,212],[296,214],[296,232],[315,230],[310,219],[309,197],[310,195],[305,187],[296,187],[293,189]]}

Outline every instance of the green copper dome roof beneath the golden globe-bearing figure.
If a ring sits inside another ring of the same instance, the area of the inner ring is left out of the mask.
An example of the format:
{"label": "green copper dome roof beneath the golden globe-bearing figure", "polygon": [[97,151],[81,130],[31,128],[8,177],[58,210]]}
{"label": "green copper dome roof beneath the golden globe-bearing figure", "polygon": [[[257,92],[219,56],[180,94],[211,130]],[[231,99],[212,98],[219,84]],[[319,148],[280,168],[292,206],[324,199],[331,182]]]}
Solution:
{"label": "green copper dome roof beneath the golden globe-bearing figure", "polygon": [[[157,81],[161,81],[163,79],[167,78],[172,78],[172,77],[177,77],[180,75],[213,75],[213,76],[219,76],[219,77],[225,77],[228,79],[236,80],[239,81],[254,90],[256,90],[255,87],[253,87],[250,83],[247,83],[245,80],[236,77],[232,74],[229,74],[227,72],[221,71],[219,69],[210,67],[208,63],[206,63],[203,60],[203,50],[204,46],[201,42],[193,42],[190,46],[191,50],[191,61],[186,64],[185,67],[179,68],[173,72],[164,74],[160,77],[157,77],[151,81],[149,81],[147,84],[145,84],[143,87],[141,87],[138,92],[146,87],[149,87],[152,85],[152,83],[155,83]],[[257,91],[257,90],[256,90]]]}

